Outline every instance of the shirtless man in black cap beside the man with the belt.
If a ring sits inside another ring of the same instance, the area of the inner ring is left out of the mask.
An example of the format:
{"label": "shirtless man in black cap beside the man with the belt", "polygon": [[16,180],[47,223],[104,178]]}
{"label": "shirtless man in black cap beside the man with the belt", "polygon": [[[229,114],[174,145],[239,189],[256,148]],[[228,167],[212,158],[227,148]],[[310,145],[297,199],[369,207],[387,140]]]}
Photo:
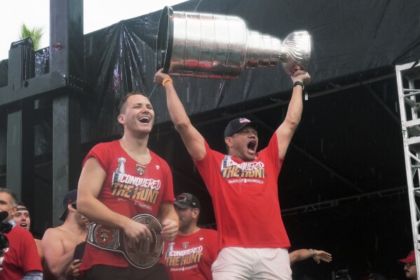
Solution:
{"label": "shirtless man in black cap beside the man with the belt", "polygon": [[44,279],[66,279],[65,272],[74,261],[74,248],[86,240],[87,219],[77,211],[76,199],[76,189],[65,194],[59,218],[63,224],[47,229],[43,234]]}

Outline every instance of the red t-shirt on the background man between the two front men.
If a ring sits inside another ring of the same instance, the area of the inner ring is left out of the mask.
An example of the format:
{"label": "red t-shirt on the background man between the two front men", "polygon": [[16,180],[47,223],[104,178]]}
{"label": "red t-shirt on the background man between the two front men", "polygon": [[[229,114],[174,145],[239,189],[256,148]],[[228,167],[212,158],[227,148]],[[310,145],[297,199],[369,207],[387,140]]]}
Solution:
{"label": "red t-shirt on the background man between the two front men", "polygon": [[161,262],[172,280],[211,280],[212,263],[217,258],[217,232],[200,229],[173,241],[165,241]]}

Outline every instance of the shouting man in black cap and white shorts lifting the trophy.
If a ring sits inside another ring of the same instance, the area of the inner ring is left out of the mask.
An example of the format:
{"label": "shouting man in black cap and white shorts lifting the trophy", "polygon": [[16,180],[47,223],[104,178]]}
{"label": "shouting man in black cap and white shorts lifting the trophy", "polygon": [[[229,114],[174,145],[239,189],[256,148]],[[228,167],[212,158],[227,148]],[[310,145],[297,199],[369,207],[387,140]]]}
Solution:
{"label": "shouting man in black cap and white shorts lifting the trophy", "polygon": [[257,152],[256,123],[242,117],[226,126],[225,155],[210,149],[191,124],[170,76],[163,69],[154,76],[154,82],[165,88],[170,119],[212,196],[221,250],[212,265],[215,280],[249,279],[256,274],[260,279],[292,279],[277,179],[302,116],[304,82],[311,76],[298,70],[291,78],[287,114],[269,145]]}

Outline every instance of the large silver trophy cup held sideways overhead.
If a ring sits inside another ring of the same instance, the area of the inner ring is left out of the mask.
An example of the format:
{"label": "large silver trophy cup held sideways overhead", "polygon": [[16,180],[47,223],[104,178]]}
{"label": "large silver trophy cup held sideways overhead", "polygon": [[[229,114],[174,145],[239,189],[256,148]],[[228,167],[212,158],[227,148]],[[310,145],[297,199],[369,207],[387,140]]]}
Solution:
{"label": "large silver trophy cup held sideways overhead", "polygon": [[308,69],[311,38],[306,31],[280,39],[246,28],[241,18],[174,12],[166,6],[159,20],[157,69],[173,76],[236,79],[243,69],[283,65],[292,76]]}

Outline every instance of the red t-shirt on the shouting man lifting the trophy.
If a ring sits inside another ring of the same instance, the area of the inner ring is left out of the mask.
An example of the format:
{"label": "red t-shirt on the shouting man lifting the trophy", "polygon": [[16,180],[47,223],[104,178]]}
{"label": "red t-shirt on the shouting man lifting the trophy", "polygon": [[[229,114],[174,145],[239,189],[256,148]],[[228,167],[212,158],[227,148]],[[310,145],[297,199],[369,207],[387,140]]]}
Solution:
{"label": "red t-shirt on the shouting man lifting the trophy", "polygon": [[276,133],[253,161],[216,152],[207,142],[205,150],[195,164],[212,196],[220,249],[290,247],[278,202],[283,159]]}

